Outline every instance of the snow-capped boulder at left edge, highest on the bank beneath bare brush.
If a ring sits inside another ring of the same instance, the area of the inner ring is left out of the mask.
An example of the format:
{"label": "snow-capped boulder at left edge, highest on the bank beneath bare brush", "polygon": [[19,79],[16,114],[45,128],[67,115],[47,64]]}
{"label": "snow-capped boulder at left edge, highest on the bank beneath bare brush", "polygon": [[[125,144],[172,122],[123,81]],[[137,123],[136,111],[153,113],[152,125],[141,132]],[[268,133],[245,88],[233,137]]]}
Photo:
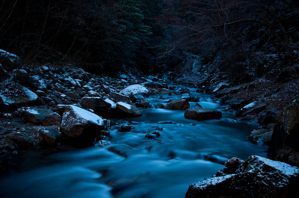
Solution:
{"label": "snow-capped boulder at left edge, highest on the bank beneath bare brush", "polygon": [[22,65],[21,59],[12,53],[0,49],[1,64],[7,71],[11,70],[13,66],[19,67]]}

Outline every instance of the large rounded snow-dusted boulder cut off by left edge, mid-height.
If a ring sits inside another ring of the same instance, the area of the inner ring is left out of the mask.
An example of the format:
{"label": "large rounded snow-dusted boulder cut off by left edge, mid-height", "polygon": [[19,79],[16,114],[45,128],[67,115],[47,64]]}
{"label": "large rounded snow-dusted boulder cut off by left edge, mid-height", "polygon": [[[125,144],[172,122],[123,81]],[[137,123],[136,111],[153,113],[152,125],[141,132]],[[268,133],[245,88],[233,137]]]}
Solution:
{"label": "large rounded snow-dusted boulder cut off by left edge, mid-height", "polygon": [[39,105],[38,96],[18,83],[3,83],[0,85],[0,107],[12,110],[24,106]]}

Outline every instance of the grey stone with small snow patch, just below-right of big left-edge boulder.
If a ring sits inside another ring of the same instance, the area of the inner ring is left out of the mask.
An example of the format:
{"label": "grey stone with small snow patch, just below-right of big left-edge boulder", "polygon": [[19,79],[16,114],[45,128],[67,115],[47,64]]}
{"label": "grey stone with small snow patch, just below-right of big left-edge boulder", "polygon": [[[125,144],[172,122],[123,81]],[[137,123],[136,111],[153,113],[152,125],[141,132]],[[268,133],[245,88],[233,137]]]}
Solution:
{"label": "grey stone with small snow patch, just below-right of big left-edge boulder", "polygon": [[52,110],[46,108],[28,108],[24,112],[24,117],[29,122],[42,123],[45,117],[52,113],[54,113]]}

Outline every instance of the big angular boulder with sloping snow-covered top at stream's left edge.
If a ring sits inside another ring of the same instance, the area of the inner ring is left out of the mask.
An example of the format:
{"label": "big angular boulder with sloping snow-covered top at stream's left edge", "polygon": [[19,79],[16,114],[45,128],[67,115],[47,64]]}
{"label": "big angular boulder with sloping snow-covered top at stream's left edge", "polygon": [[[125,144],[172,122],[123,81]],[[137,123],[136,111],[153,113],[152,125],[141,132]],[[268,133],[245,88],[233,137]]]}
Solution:
{"label": "big angular boulder with sloping snow-covered top at stream's left edge", "polygon": [[93,141],[104,129],[103,119],[74,105],[65,107],[60,131],[66,138]]}

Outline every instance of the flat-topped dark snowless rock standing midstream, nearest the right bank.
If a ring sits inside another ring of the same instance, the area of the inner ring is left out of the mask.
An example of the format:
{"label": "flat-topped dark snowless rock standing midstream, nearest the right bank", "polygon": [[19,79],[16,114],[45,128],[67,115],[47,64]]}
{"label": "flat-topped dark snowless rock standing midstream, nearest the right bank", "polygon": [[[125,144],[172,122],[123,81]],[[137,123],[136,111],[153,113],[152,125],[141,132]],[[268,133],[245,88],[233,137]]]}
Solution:
{"label": "flat-topped dark snowless rock standing midstream, nearest the right bank", "polygon": [[189,108],[185,111],[184,116],[189,119],[196,120],[211,120],[220,119],[222,117],[222,112],[216,109],[193,109]]}

